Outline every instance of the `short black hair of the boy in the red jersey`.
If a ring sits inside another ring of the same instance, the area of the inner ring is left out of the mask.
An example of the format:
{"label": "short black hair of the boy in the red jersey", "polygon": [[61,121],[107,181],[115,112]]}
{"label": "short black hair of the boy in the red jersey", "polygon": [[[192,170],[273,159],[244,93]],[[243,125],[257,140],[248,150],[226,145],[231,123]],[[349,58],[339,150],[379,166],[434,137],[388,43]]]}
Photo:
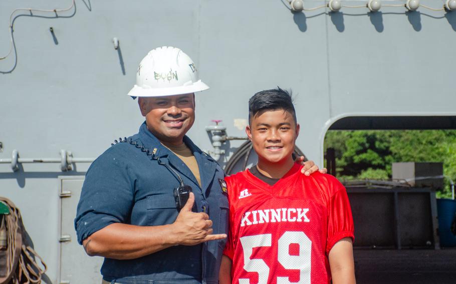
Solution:
{"label": "short black hair of the boy in the red jersey", "polygon": [[260,115],[267,110],[283,109],[293,115],[297,124],[295,106],[293,105],[291,91],[286,91],[277,86],[277,89],[262,90],[249,99],[249,124],[252,117]]}

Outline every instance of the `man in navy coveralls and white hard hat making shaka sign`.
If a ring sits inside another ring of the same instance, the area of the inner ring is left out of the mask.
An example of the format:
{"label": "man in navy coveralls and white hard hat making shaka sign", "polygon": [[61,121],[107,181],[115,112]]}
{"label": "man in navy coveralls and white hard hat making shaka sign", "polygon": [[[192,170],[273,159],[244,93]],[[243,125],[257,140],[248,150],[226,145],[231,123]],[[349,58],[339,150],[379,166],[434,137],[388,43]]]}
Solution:
{"label": "man in navy coveralls and white hard hat making shaka sign", "polygon": [[[75,219],[87,254],[105,257],[103,283],[218,283],[229,214],[224,172],[185,135],[194,92],[207,88],[178,48],[155,48],[139,64],[128,94],[139,97],[146,121],[92,163]],[[177,208],[180,185],[192,193]]]}

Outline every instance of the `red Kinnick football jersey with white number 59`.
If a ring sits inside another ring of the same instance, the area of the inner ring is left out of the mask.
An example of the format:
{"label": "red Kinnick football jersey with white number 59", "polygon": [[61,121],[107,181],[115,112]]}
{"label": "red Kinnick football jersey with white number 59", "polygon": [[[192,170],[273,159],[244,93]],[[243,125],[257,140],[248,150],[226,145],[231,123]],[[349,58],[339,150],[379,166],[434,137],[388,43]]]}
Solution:
{"label": "red Kinnick football jersey with white number 59", "polygon": [[306,176],[294,164],[269,185],[249,170],[226,177],[230,234],[223,253],[233,283],[329,283],[328,253],[354,238],[344,186],[332,175]]}

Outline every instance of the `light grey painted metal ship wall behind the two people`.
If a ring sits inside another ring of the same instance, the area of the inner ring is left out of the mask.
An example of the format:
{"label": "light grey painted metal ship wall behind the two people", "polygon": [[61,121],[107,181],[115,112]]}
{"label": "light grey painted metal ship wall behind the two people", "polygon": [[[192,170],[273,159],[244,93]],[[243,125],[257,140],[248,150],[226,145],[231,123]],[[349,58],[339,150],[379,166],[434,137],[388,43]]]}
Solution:
{"label": "light grey painted metal ship wall behind the two people", "polygon": [[[322,3],[304,1],[307,7]],[[70,4],[0,2],[0,56],[8,52],[13,9]],[[27,12],[15,17],[17,64],[14,55],[0,60],[0,158],[13,149],[22,157],[59,157],[60,149],[96,157],[113,139],[135,133],[143,119],[126,93],[141,58],[160,45],[182,48],[211,87],[196,96],[189,132],[206,150],[210,119],[222,119],[229,135],[243,136],[234,119],[247,118],[247,101],[256,91],[277,85],[297,94],[298,146],[320,165],[324,134],[339,117],[456,115],[456,12],[384,7],[375,14],[348,8],[293,14],[281,0],[76,0],[76,8],[58,18]],[[84,174],[88,165],[76,166],[62,173],[58,164],[24,164],[12,172],[0,164],[0,195],[21,208],[53,282],[59,259],[57,176]]]}

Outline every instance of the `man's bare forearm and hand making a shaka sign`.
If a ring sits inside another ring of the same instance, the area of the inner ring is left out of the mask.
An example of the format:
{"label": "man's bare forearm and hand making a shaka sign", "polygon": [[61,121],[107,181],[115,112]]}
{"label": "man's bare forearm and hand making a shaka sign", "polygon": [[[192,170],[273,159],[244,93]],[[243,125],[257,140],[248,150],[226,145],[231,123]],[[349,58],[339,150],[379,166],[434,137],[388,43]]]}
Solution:
{"label": "man's bare forearm and hand making a shaka sign", "polygon": [[83,241],[84,248],[89,255],[134,259],[178,244],[193,245],[225,238],[226,234],[212,234],[212,221],[206,213],[191,211],[194,201],[195,195],[190,193],[172,224],[138,226],[112,223],[87,237]]}

